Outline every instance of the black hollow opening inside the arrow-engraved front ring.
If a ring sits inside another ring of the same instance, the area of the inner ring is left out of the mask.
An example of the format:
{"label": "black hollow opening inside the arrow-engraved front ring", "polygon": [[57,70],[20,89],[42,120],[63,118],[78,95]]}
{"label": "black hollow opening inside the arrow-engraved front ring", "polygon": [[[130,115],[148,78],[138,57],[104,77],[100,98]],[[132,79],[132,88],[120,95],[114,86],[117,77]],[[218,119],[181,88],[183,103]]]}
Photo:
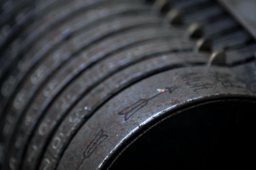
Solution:
{"label": "black hollow opening inside the arrow-engraved front ring", "polygon": [[254,102],[198,105],[152,126],[109,169],[255,169],[255,129]]}

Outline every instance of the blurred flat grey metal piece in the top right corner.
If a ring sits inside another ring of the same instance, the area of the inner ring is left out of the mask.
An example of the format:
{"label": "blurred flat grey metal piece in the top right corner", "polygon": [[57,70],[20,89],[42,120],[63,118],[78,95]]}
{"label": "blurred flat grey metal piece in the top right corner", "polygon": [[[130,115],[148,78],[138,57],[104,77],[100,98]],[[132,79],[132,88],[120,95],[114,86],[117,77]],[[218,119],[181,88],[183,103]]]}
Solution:
{"label": "blurred flat grey metal piece in the top right corner", "polygon": [[256,38],[256,0],[219,0]]}

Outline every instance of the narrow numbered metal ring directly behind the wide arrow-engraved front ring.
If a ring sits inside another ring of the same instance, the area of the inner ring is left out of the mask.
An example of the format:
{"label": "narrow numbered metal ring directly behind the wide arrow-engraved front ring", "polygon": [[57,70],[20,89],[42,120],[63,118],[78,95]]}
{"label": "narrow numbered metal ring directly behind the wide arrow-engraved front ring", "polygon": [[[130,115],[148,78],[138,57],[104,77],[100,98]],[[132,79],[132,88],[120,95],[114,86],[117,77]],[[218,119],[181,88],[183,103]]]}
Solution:
{"label": "narrow numbered metal ring directly behind the wide arrow-engraved front ring", "polygon": [[[63,148],[69,143],[69,137],[73,136],[79,126],[84,123],[94,110],[112,98],[115,94],[121,91],[121,89],[138,82],[143,77],[148,77],[161,70],[185,67],[185,65],[202,65],[207,62],[207,57],[205,55],[200,57],[197,56],[198,58],[194,58],[190,55],[190,52],[181,52],[179,54],[169,54],[168,52],[166,54],[159,53],[153,56],[148,56],[147,58],[149,59],[146,59],[145,61],[142,60],[129,68],[124,68],[114,74],[110,79],[97,85],[85,98],[79,101],[79,103],[69,111],[68,115],[65,116],[65,119],[61,122],[61,125],[59,125],[58,131],[55,132],[55,135],[48,144],[48,152],[45,153],[41,169],[45,166],[54,169],[56,166],[55,159],[59,159],[60,155],[63,153]],[[84,105],[83,103],[87,103],[86,112],[81,109]],[[73,129],[73,132],[70,131],[70,129]],[[56,144],[56,140],[58,140],[59,136],[61,137],[61,144],[59,143],[58,145],[58,143]],[[54,155],[54,157],[52,155]],[[49,165],[45,164],[47,162]]]}

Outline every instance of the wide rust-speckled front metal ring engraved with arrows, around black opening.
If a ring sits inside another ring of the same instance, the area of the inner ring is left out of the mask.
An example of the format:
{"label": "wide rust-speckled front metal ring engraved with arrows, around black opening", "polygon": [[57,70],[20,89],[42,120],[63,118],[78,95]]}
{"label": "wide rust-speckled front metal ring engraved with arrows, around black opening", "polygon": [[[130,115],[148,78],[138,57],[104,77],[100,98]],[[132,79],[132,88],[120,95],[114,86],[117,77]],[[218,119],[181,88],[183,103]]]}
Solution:
{"label": "wide rust-speckled front metal ring engraved with arrows, around black opening", "polygon": [[139,128],[182,105],[222,97],[252,97],[255,100],[255,63],[239,68],[236,74],[234,70],[180,68],[127,88],[81,127],[61,158],[58,170],[102,168],[111,154]]}

